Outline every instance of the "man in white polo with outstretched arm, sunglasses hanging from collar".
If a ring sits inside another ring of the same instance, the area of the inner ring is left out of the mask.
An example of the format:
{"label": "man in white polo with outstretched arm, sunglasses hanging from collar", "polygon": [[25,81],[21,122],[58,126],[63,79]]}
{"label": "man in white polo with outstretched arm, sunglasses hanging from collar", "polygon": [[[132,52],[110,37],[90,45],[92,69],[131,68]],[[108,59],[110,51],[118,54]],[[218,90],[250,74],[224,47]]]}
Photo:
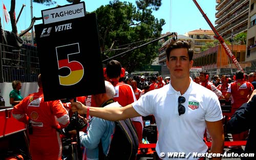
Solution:
{"label": "man in white polo with outstretched arm, sunglasses hanging from collar", "polygon": [[[170,73],[168,85],[147,92],[123,108],[94,108],[73,102],[71,110],[111,121],[154,115],[159,134],[156,144],[159,159],[204,159],[191,154],[207,152],[208,147],[203,141],[206,126],[212,138],[210,152],[223,153],[220,102],[214,92],[189,77],[193,55],[189,42],[172,41],[166,48],[166,66]],[[169,152],[182,155],[168,157]]]}

